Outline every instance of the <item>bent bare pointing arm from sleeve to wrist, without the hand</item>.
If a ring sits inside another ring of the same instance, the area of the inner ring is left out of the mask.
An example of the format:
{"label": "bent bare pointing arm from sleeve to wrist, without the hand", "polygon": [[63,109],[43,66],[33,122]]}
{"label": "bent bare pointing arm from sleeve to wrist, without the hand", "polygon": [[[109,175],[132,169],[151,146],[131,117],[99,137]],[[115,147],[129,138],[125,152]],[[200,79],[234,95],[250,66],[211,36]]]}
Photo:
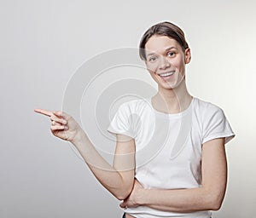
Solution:
{"label": "bent bare pointing arm from sleeve to wrist, without the hand", "polygon": [[96,151],[87,135],[81,133],[73,145],[79,150],[96,179],[106,187],[114,197],[123,200],[129,196],[134,182],[134,140],[126,135],[117,135],[113,166],[108,164]]}

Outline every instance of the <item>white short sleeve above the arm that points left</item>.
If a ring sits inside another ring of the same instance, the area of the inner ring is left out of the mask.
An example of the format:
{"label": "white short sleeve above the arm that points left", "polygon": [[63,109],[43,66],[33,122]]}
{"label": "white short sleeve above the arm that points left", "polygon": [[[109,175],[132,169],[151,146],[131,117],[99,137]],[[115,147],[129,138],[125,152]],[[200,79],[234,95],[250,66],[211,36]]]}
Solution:
{"label": "white short sleeve above the arm that points left", "polygon": [[128,135],[131,138],[134,138],[130,118],[131,108],[127,103],[124,103],[119,106],[118,111],[113,116],[113,119],[107,129],[108,132],[112,134]]}

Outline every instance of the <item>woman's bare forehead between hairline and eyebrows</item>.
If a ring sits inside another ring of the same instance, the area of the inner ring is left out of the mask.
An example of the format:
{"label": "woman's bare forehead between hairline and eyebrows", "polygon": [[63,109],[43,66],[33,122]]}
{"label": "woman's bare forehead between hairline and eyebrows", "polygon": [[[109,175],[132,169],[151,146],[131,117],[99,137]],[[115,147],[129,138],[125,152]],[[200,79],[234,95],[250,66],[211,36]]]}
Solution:
{"label": "woman's bare forehead between hairline and eyebrows", "polygon": [[166,36],[157,36],[154,35],[148,39],[148,42],[145,44],[146,54],[156,53],[161,54],[166,51],[168,48],[181,49],[181,46],[177,41],[171,37]]}

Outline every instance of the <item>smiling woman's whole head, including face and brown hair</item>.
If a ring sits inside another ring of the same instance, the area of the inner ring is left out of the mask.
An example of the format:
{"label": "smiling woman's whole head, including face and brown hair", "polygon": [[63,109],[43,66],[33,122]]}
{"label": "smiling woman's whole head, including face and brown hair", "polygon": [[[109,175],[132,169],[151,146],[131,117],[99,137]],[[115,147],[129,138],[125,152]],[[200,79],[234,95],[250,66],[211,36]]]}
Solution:
{"label": "smiling woman's whole head, including face and brown hair", "polygon": [[166,88],[174,88],[183,80],[184,65],[191,60],[183,31],[170,22],[149,28],[141,40],[139,53],[155,82]]}

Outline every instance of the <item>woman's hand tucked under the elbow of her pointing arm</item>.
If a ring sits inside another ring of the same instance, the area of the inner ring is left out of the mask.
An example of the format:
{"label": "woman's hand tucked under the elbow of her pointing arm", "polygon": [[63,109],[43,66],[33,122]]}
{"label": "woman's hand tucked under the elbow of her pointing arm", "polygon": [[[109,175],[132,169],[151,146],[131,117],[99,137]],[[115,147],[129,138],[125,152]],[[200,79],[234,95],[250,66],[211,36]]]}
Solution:
{"label": "woman's hand tucked under the elbow of her pointing arm", "polygon": [[143,189],[142,184],[135,179],[131,194],[121,204],[119,204],[119,206],[121,208],[136,208],[139,206],[139,199],[142,196],[141,191],[143,191]]}

